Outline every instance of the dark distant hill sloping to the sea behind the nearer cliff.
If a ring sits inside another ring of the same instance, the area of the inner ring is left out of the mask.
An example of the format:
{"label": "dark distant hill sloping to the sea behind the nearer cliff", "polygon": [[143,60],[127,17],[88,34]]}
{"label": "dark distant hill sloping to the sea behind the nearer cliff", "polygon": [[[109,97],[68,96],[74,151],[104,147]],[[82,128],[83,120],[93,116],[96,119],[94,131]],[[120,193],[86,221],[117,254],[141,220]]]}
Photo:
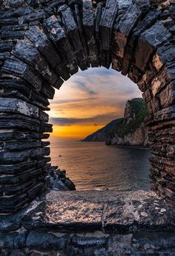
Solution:
{"label": "dark distant hill sloping to the sea behind the nearer cliff", "polygon": [[88,135],[85,137],[85,139],[81,140],[82,142],[105,142],[105,140],[108,137],[108,134],[110,131],[113,130],[113,128],[116,127],[116,125],[119,125],[123,121],[123,118],[115,119],[108,123],[108,125],[105,125],[105,127],[99,129],[98,131],[95,131],[93,134]]}

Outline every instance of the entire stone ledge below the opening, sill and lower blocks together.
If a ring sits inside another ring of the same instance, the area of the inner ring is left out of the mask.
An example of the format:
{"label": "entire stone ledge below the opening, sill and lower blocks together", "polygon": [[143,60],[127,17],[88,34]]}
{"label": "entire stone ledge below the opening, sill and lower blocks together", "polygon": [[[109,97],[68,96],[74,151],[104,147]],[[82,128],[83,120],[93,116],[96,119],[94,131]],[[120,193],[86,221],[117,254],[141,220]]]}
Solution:
{"label": "entire stone ledge below the opening, sill and lower blocks together", "polygon": [[1,216],[0,255],[174,255],[174,212],[151,191],[47,191]]}

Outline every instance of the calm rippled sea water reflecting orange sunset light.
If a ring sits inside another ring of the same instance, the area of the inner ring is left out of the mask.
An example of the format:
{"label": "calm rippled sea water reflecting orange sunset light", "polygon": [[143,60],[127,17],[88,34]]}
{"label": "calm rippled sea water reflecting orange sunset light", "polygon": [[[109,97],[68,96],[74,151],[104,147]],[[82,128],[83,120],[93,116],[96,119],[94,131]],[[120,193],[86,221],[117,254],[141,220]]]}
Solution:
{"label": "calm rippled sea water reflecting orange sunset light", "polygon": [[149,189],[149,149],[104,142],[60,142],[50,144],[50,150],[52,165],[66,170],[76,190]]}

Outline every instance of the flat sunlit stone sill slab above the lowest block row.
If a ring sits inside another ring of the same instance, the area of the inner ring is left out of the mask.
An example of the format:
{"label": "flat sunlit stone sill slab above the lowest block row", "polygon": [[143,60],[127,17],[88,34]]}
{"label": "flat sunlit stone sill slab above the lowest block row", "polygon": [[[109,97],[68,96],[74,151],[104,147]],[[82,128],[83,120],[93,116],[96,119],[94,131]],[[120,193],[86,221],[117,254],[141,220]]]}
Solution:
{"label": "flat sunlit stone sill slab above the lowest block row", "polygon": [[175,231],[174,213],[153,191],[47,191],[16,214],[0,217],[1,232]]}

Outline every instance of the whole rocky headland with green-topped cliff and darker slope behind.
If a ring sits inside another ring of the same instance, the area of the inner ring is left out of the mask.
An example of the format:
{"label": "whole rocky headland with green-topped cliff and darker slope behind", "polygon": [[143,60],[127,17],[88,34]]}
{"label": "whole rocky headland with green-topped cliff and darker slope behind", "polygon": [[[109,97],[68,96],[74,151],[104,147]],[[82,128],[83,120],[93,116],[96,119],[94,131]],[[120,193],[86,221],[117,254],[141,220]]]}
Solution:
{"label": "whole rocky headland with green-topped cliff and darker slope behind", "polygon": [[148,145],[148,132],[143,125],[146,116],[147,111],[142,98],[128,100],[124,118],[109,122],[82,142],[105,141],[108,145]]}

